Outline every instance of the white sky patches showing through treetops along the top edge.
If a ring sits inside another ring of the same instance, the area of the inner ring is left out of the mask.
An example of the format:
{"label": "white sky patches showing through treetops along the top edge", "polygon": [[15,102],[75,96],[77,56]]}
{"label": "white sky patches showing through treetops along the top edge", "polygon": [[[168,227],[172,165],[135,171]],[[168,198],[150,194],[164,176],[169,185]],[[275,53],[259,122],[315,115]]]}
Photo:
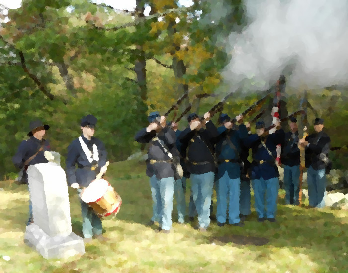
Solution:
{"label": "white sky patches showing through treetops along the top edge", "polygon": [[[19,8],[21,2],[22,2],[21,0],[0,0],[1,4],[3,4],[4,6],[10,9]],[[94,0],[94,2],[105,3],[117,9],[127,9],[127,10],[135,9],[135,0]],[[190,6],[193,4],[191,0],[179,0],[179,3],[184,6]]]}

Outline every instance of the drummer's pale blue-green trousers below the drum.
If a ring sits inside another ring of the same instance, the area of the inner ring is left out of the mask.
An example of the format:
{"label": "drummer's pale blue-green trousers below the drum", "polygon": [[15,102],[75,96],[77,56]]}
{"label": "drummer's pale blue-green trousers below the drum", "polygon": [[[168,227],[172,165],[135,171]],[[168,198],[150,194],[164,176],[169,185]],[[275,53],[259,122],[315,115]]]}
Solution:
{"label": "drummer's pale blue-green trousers below the drum", "polygon": [[[82,189],[78,189],[81,193]],[[81,203],[81,215],[82,215],[82,233],[85,238],[92,238],[93,235],[101,235],[103,226],[101,219],[95,214],[94,210],[89,205],[83,202]]]}

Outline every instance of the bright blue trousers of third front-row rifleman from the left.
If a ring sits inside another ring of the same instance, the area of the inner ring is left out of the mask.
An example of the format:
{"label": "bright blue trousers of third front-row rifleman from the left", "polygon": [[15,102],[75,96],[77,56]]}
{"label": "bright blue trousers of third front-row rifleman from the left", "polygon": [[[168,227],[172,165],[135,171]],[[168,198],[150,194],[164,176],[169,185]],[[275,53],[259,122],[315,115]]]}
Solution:
{"label": "bright blue trousers of third front-row rifleman from the left", "polygon": [[239,223],[241,221],[241,219],[239,218],[241,179],[231,179],[228,175],[228,172],[225,171],[224,175],[217,181],[217,183],[217,221],[219,223],[226,222],[227,199],[229,199],[228,222],[230,224]]}

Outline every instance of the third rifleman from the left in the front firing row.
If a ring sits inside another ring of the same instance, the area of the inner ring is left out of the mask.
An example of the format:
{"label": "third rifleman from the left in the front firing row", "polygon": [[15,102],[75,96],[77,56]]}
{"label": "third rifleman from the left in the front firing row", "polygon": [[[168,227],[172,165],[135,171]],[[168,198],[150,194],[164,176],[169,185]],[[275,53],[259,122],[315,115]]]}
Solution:
{"label": "third rifleman from the left in the front firing row", "polygon": [[219,136],[215,138],[216,157],[218,161],[217,186],[217,221],[218,226],[225,225],[227,200],[228,222],[235,226],[243,226],[239,218],[239,199],[241,183],[241,143],[248,136],[245,125],[233,129],[233,123],[227,114],[219,117],[222,126],[218,128]]}

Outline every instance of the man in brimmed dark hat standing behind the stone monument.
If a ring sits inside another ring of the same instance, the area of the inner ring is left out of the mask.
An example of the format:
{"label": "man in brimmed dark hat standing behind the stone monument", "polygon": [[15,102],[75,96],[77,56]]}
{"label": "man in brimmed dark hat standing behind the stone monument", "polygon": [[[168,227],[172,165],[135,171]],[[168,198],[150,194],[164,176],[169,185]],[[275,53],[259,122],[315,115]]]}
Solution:
{"label": "man in brimmed dark hat standing behind the stone monument", "polygon": [[[26,170],[28,166],[48,163],[48,160],[44,156],[45,151],[50,151],[50,144],[47,140],[43,139],[43,136],[50,127],[44,125],[41,121],[32,121],[29,124],[30,132],[28,133],[29,139],[23,140],[18,147],[17,153],[12,157],[13,164],[22,169],[22,177],[20,182],[23,184],[28,183],[28,175]],[[29,220],[27,226],[33,222],[33,212],[31,200],[29,197]]]}

